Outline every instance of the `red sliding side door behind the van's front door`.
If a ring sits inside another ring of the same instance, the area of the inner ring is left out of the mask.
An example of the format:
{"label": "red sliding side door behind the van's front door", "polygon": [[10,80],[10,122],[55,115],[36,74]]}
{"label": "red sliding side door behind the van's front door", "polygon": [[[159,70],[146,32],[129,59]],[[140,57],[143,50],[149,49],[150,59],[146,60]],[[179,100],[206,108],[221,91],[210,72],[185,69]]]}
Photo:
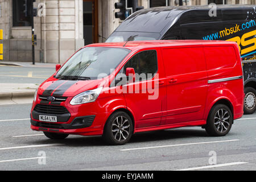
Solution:
{"label": "red sliding side door behind the van's front door", "polygon": [[207,96],[207,72],[202,47],[162,49],[166,71],[167,109],[162,125],[199,121]]}

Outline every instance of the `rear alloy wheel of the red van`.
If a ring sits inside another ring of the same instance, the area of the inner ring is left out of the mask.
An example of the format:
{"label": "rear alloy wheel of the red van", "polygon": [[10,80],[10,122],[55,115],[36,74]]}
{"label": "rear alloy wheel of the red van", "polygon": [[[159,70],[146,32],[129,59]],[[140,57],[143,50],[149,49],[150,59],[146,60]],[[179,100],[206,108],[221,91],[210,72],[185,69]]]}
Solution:
{"label": "rear alloy wheel of the red van", "polygon": [[218,104],[210,110],[205,130],[210,136],[221,137],[229,133],[233,115],[228,106]]}

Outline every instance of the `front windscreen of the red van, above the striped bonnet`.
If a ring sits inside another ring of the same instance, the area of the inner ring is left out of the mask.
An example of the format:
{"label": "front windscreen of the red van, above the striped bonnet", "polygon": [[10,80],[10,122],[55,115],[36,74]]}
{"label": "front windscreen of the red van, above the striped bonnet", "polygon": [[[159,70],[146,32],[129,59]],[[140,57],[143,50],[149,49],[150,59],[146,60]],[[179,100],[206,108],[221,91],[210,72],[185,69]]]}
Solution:
{"label": "front windscreen of the red van, above the striped bonnet", "polygon": [[56,78],[96,80],[110,75],[130,52],[126,48],[85,47],[59,69]]}

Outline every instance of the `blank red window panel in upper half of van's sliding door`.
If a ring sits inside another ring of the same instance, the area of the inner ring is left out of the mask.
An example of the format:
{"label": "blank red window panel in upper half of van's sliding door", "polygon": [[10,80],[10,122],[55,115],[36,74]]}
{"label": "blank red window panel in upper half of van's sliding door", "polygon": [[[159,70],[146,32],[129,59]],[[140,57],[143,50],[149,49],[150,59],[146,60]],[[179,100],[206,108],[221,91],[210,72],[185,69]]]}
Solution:
{"label": "blank red window panel in upper half of van's sliding door", "polygon": [[205,71],[204,52],[201,47],[164,48],[166,76]]}

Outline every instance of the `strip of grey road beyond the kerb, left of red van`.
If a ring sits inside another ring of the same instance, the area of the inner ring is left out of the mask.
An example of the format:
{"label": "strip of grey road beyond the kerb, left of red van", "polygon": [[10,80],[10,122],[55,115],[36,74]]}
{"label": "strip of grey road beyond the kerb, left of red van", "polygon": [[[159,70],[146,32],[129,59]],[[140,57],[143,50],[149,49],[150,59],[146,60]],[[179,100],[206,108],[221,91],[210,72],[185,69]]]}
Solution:
{"label": "strip of grey road beyond the kerb, left of red van", "polygon": [[31,68],[0,65],[1,83],[41,84],[55,73],[55,68]]}

